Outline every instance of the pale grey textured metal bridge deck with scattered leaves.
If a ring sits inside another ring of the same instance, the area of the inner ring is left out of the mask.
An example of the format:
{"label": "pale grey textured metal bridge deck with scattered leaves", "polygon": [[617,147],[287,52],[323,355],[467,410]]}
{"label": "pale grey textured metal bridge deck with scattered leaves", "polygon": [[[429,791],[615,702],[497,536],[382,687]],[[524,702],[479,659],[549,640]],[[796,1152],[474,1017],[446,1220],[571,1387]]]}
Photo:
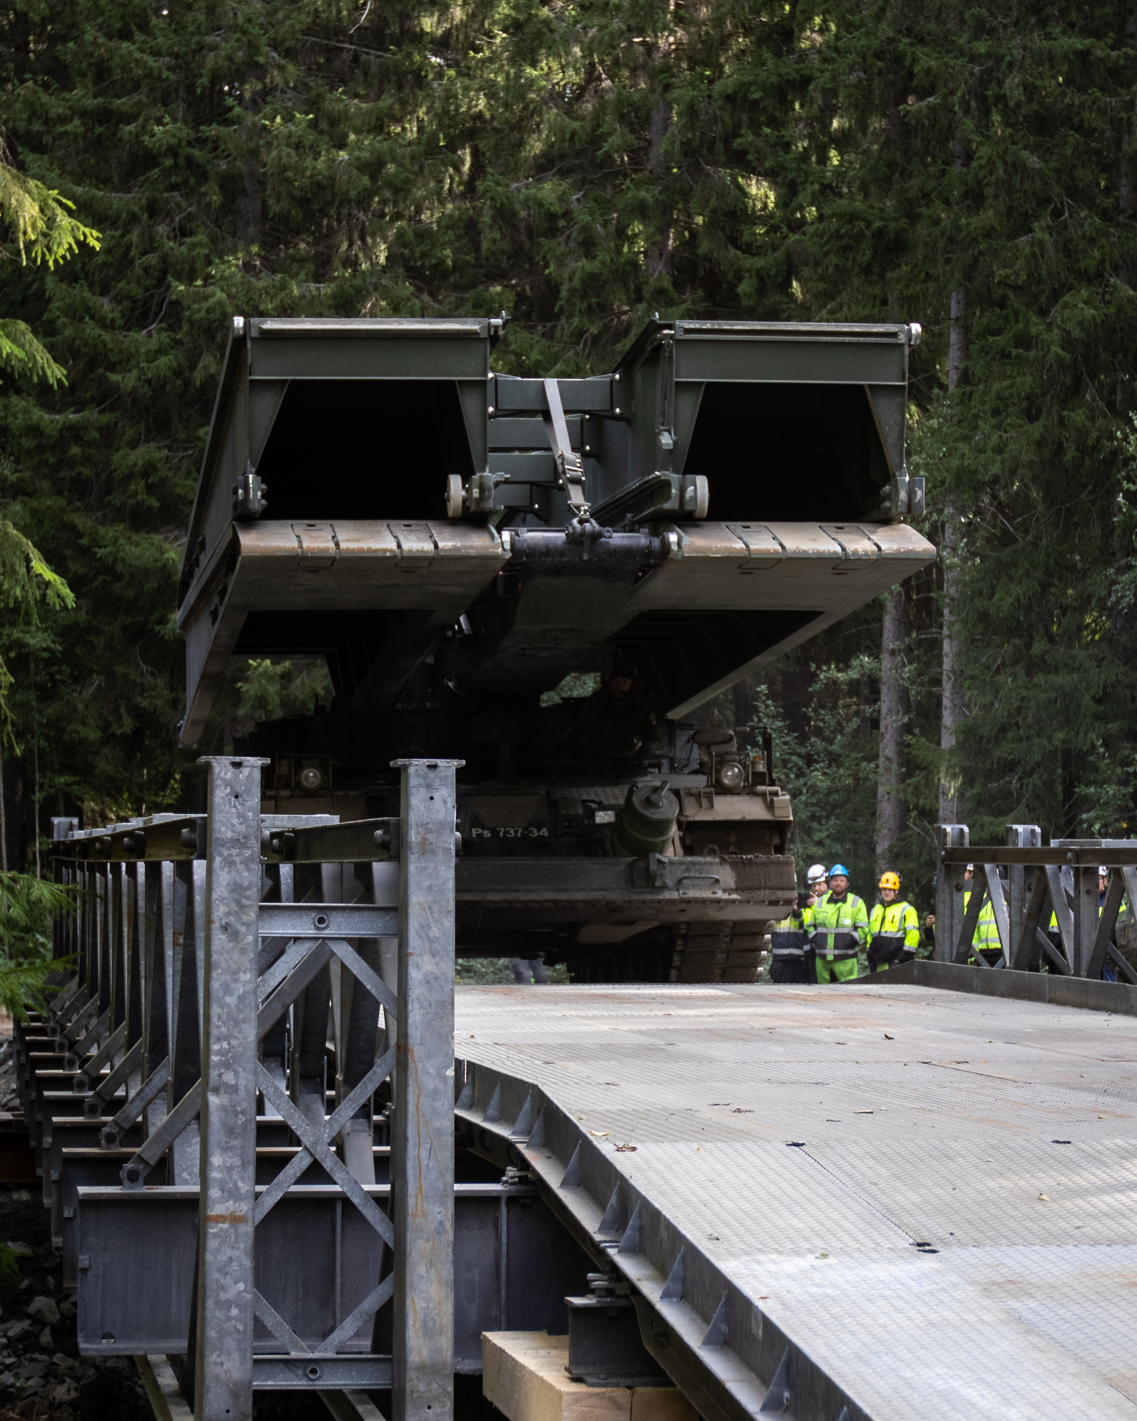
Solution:
{"label": "pale grey textured metal bridge deck with scattered leaves", "polygon": [[456,1053],[539,1086],[867,1415],[1136,1421],[1137,1019],[460,988]]}

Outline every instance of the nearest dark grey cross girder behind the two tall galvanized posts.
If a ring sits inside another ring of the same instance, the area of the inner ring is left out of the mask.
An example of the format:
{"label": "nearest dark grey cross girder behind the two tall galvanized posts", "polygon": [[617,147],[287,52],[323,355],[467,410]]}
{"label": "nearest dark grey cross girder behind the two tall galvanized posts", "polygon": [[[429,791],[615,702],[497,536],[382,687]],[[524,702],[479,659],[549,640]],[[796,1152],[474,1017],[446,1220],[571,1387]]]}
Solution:
{"label": "nearest dark grey cross girder behind the two tall galvanized posts", "polygon": [[[264,1185],[257,1187],[257,1198],[266,1192]],[[389,1206],[388,1185],[368,1185],[365,1192],[379,1209]],[[81,1188],[78,1196],[82,1353],[183,1351],[199,1191],[91,1187]],[[590,1263],[529,1182],[458,1184],[453,1201],[453,1370],[480,1373],[483,1331],[563,1334],[564,1297],[583,1290]],[[161,1268],[153,1266],[155,1259],[162,1260]],[[343,1192],[330,1184],[293,1185],[259,1225],[257,1290],[308,1347],[308,1356],[286,1363],[296,1377],[290,1385],[330,1385],[325,1377],[308,1377],[306,1368],[313,1363],[325,1368],[331,1361],[321,1339],[368,1296],[384,1259],[389,1263],[389,1252],[375,1232],[357,1209],[344,1208]],[[371,1354],[370,1322],[340,1349],[343,1361],[355,1368],[351,1385],[391,1387],[389,1307],[379,1317],[379,1334],[385,1346],[378,1357]],[[266,1376],[279,1366],[279,1343],[267,1327],[257,1326],[254,1388],[274,1385]]]}

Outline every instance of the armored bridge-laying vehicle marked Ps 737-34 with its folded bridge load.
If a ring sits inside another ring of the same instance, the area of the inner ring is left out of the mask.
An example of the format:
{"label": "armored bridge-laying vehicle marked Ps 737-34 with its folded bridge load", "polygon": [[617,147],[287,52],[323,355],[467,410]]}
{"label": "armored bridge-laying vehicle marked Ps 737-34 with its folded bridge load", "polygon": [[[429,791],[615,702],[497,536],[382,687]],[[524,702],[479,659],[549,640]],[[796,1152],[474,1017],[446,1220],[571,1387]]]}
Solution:
{"label": "armored bridge-laying vehicle marked Ps 737-34 with its folded bridge load", "polygon": [[495,374],[502,334],[233,321],[182,743],[232,657],[323,658],[330,710],[239,743],[266,813],[382,820],[392,760],[460,759],[460,955],[753,980],[790,800],[769,737],[698,708],[934,558],[904,522],[920,328],[657,320],[587,379]]}

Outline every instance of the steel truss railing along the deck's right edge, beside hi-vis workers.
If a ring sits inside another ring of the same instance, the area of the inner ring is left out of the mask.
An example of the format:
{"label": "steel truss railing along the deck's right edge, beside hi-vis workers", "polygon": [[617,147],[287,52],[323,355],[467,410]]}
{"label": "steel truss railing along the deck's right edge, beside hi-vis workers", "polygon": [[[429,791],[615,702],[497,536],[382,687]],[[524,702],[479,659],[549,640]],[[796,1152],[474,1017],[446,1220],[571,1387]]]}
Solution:
{"label": "steel truss railing along the deck's right edge, beside hi-vis workers", "polygon": [[[1038,824],[1008,824],[1006,844],[972,844],[966,824],[937,826],[935,958],[981,966],[1100,979],[1137,972],[1114,944],[1119,919],[1137,919],[1137,840],[1052,838]],[[1109,872],[1104,898],[1099,868]],[[971,877],[968,871],[971,870]],[[995,963],[975,952],[986,905],[999,935]]]}

